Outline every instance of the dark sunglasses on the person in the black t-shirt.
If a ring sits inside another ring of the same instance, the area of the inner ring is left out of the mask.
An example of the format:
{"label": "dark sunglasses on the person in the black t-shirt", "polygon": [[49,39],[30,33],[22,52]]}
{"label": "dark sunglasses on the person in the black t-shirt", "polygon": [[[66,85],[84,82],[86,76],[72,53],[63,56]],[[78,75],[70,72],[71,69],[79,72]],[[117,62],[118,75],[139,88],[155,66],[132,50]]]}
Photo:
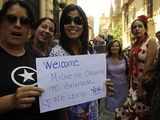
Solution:
{"label": "dark sunglasses on the person in the black t-shirt", "polygon": [[15,24],[18,19],[19,19],[21,25],[30,25],[31,24],[31,20],[28,17],[17,17],[14,15],[5,15],[4,19],[10,24]]}

